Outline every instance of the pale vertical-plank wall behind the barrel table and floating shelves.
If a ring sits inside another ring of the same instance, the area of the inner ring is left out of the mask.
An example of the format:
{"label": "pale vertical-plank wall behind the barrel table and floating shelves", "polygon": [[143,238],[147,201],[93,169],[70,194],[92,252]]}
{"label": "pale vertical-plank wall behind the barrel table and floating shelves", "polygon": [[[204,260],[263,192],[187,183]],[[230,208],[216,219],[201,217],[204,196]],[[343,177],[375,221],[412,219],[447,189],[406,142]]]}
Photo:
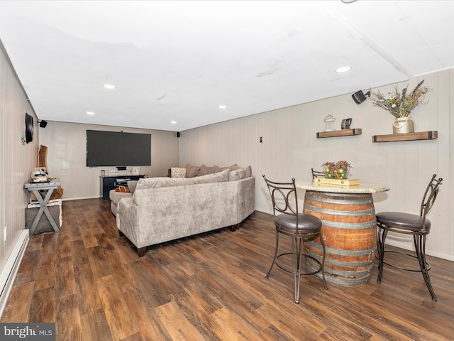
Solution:
{"label": "pale vertical-plank wall behind the barrel table and floating shelves", "polygon": [[[309,180],[311,167],[347,160],[353,166],[354,178],[391,188],[374,195],[377,212],[402,210],[416,214],[428,180],[437,173],[444,181],[430,214],[436,228],[431,232],[427,252],[454,261],[454,210],[450,207],[454,197],[454,181],[450,180],[454,178],[454,167],[450,166],[454,163],[454,120],[450,119],[454,117],[454,69],[416,77],[398,87],[411,87],[422,79],[432,91],[426,96],[427,104],[414,109],[412,118],[416,131],[437,130],[436,140],[373,144],[372,135],[392,134],[392,115],[372,107],[369,101],[355,104],[351,94],[345,94],[182,131],[179,166],[252,166],[257,178],[255,207],[267,213],[271,212],[271,205],[262,180],[264,173],[274,180]],[[386,93],[393,87],[378,90]],[[316,139],[328,114],[336,117],[336,129],[341,129],[342,119],[352,118],[351,128],[362,129],[362,135]],[[304,192],[299,197],[302,200]],[[411,239],[390,235],[389,243],[412,248]]]}

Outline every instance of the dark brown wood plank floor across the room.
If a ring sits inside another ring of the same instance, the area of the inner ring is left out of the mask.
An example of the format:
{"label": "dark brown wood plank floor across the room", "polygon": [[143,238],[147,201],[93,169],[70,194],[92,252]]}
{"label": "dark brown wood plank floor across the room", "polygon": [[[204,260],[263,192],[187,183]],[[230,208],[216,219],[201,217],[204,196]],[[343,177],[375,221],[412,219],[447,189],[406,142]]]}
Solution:
{"label": "dark brown wood plank floor across the room", "polygon": [[[430,238],[430,236],[429,236]],[[107,200],[63,202],[60,233],[31,237],[1,322],[55,322],[73,340],[454,340],[454,262],[419,273],[387,266],[377,284],[293,277],[272,259],[272,216],[240,229],[149,247],[138,258]]]}

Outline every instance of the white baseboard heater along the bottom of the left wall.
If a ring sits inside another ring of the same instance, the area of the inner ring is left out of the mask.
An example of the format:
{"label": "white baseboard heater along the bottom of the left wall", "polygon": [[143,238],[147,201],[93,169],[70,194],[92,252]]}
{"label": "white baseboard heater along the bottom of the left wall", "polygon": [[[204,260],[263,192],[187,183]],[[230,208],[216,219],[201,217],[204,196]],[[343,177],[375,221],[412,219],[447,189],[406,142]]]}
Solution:
{"label": "white baseboard heater along the bottom of the left wall", "polygon": [[16,278],[17,271],[21,265],[23,259],[23,254],[25,254],[28,239],[29,239],[28,229],[24,229],[16,242],[16,245],[11,251],[11,254],[6,261],[6,264],[3,270],[0,273],[0,318],[3,315],[3,310],[8,301],[9,293],[13,287],[14,279]]}

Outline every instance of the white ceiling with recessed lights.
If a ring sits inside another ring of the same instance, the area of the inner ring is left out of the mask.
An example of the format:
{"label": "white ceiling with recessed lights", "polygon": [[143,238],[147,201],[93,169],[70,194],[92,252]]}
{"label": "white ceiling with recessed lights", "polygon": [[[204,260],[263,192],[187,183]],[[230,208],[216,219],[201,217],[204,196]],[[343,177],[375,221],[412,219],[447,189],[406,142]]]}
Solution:
{"label": "white ceiling with recessed lights", "polygon": [[0,1],[0,39],[39,119],[184,131],[454,67],[453,13],[454,1]]}

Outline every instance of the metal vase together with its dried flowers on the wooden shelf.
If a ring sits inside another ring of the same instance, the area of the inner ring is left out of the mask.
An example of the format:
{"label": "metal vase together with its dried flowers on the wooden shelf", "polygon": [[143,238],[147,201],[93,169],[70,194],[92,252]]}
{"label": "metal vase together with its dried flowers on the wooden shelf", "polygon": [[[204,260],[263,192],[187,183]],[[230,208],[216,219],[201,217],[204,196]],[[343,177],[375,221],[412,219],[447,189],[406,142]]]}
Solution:
{"label": "metal vase together with its dried flowers on the wooden shelf", "polygon": [[392,124],[393,134],[413,133],[414,123],[409,118],[410,112],[420,105],[425,105],[423,102],[424,95],[431,91],[428,87],[423,87],[424,80],[421,80],[418,85],[408,92],[408,85],[402,89],[402,92],[397,90],[397,85],[394,87],[394,92],[389,92],[387,95],[382,94],[380,91],[371,92],[370,100],[374,107],[380,107],[387,110],[394,116]]}

